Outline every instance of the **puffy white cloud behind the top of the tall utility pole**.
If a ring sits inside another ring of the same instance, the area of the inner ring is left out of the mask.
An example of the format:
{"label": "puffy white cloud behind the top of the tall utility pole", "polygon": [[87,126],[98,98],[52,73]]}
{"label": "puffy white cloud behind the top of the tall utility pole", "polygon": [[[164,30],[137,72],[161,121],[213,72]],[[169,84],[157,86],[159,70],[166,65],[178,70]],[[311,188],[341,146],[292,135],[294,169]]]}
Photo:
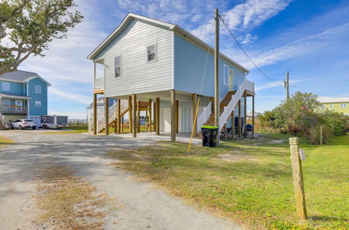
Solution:
{"label": "puffy white cloud behind the top of the tall utility pole", "polygon": [[[247,0],[232,9],[220,13],[225,24],[232,30],[245,31],[258,26],[284,10],[292,0]],[[214,20],[210,17],[205,24],[191,31],[198,38],[209,41],[214,34]],[[226,33],[223,31],[223,33]]]}

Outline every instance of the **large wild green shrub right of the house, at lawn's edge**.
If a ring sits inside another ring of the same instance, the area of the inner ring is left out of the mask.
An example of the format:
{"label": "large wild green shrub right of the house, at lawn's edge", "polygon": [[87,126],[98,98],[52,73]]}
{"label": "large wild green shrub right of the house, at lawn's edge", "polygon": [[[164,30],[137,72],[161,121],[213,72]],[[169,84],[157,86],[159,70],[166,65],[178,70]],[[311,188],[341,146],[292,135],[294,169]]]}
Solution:
{"label": "large wild green shrub right of the house, at lawn's edge", "polygon": [[317,95],[296,92],[272,111],[259,117],[258,128],[262,131],[290,133],[307,137],[312,144],[327,141],[331,135],[343,135],[349,130],[349,116],[320,108]]}

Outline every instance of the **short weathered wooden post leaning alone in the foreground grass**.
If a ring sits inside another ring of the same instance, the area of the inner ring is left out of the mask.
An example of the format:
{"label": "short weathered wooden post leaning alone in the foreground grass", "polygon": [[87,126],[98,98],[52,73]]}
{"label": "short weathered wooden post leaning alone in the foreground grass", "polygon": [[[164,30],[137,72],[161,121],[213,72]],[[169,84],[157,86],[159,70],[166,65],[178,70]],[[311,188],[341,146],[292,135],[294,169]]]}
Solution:
{"label": "short weathered wooden post leaning alone in the foreground grass", "polygon": [[299,158],[298,138],[291,137],[289,141],[293,174],[293,186],[295,188],[297,217],[306,220],[306,202],[304,196],[302,162]]}

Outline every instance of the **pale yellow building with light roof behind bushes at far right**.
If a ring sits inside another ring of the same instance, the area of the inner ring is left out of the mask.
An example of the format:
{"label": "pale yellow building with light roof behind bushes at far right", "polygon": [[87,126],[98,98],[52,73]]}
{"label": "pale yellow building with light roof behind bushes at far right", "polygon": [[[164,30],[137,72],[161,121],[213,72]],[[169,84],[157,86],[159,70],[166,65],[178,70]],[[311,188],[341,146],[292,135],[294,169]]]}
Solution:
{"label": "pale yellow building with light roof behind bushes at far right", "polygon": [[318,101],[322,104],[322,108],[333,110],[336,112],[342,112],[343,114],[349,115],[349,97],[343,98],[330,98],[330,97],[319,97]]}

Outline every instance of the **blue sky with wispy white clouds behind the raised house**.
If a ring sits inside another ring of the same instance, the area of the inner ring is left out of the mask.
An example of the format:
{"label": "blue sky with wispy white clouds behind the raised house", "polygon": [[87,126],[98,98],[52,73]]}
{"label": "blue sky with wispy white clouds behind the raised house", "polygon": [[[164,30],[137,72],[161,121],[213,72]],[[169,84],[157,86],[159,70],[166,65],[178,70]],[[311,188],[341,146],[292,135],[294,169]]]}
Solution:
{"label": "blue sky with wispy white clouds behind the raised house", "polygon": [[[255,110],[263,112],[285,99],[282,84],[290,71],[290,93],[349,96],[349,1],[340,0],[80,0],[84,22],[54,40],[46,56],[31,57],[20,70],[38,72],[52,86],[49,113],[85,118],[92,100],[92,63],[87,55],[111,33],[128,12],[178,24],[214,45],[214,8],[253,61],[277,84],[263,76],[221,27],[221,52],[241,63],[255,82]],[[341,84],[329,85],[336,82]],[[328,85],[328,86],[327,86]],[[249,110],[250,108],[248,108]]]}

